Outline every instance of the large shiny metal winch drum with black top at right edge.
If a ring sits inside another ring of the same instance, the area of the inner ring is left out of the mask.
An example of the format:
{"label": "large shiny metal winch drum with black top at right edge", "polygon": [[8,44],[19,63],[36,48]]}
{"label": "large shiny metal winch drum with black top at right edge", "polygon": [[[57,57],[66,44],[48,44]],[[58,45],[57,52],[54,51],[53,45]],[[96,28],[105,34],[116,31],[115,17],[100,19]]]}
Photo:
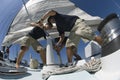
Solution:
{"label": "large shiny metal winch drum with black top at right edge", "polygon": [[117,14],[108,15],[99,25],[103,39],[102,57],[120,49],[120,19]]}

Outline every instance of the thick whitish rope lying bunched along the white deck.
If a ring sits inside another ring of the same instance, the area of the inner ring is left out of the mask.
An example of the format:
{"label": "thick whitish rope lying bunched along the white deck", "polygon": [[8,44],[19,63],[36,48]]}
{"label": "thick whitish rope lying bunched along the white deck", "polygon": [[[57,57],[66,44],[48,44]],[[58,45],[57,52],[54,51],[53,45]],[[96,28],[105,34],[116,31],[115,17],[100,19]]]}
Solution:
{"label": "thick whitish rope lying bunched along the white deck", "polygon": [[91,59],[90,61],[86,62],[84,65],[81,66],[69,66],[69,67],[62,67],[57,68],[52,71],[42,72],[42,78],[47,80],[51,75],[60,75],[60,74],[67,74],[73,73],[75,71],[83,71],[86,70],[90,73],[95,73],[101,69],[101,60],[100,59]]}

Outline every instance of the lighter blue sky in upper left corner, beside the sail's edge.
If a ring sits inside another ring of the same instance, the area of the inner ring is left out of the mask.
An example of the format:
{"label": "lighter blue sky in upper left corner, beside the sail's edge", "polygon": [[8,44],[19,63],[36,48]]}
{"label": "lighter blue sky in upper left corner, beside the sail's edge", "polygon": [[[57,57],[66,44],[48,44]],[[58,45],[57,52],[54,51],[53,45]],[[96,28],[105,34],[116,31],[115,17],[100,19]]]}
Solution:
{"label": "lighter blue sky in upper left corner, beside the sail's edge", "polygon": [[0,2],[0,45],[2,43],[2,40],[5,34],[9,29],[8,26],[11,24],[11,22],[14,19],[14,16],[21,9],[21,7],[22,7],[22,2],[18,0],[15,0],[14,3],[12,0],[1,0]]}

